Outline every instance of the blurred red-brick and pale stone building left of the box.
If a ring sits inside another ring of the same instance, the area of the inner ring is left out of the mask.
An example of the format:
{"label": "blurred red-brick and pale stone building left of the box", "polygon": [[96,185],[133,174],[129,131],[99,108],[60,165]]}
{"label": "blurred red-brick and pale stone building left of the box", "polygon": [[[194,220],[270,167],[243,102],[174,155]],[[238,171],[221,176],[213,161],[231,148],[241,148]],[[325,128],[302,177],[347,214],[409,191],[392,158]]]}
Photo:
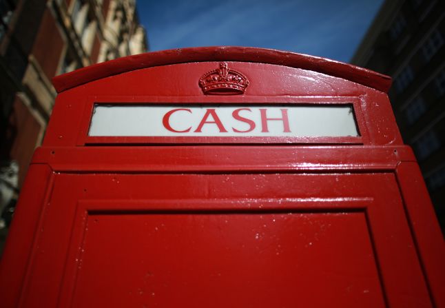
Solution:
{"label": "blurred red-brick and pale stone building left of the box", "polygon": [[1,249],[54,105],[52,77],[145,52],[147,38],[136,0],[0,0],[0,15]]}

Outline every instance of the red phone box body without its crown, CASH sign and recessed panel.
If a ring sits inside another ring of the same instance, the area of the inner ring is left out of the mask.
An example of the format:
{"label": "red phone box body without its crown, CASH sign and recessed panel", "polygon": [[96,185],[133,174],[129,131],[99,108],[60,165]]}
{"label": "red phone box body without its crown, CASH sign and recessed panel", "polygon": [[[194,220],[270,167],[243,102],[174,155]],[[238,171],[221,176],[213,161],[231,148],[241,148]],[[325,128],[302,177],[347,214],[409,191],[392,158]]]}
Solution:
{"label": "red phone box body without its crown, CASH sign and recessed panel", "polygon": [[[249,78],[245,94],[203,95],[197,81],[218,61],[233,61],[229,68]],[[0,263],[2,307],[71,305],[87,214],[157,211],[161,204],[173,212],[245,211],[243,187],[251,187],[251,196],[265,201],[264,209],[252,205],[253,212],[296,206],[285,198],[301,198],[293,201],[301,201],[302,207],[307,204],[303,198],[312,198],[313,206],[306,210],[320,212],[327,208],[315,199],[333,196],[338,202],[332,207],[341,203],[338,209],[346,212],[350,207],[366,212],[386,296],[383,304],[375,305],[445,307],[444,240],[415,156],[395,125],[384,93],[390,84],[388,76],[352,65],[256,48],[154,52],[56,77],[59,96],[43,146],[34,153]],[[223,138],[90,137],[94,103],[353,103],[360,137],[239,138],[231,139],[233,144]],[[147,178],[157,187],[150,195],[139,181]],[[163,178],[176,179],[178,186],[162,186]],[[208,178],[215,181],[214,189],[205,191],[203,180],[181,190],[187,182],[181,178],[190,183]],[[231,186],[223,184],[225,178],[244,180]],[[271,178],[274,184],[259,189],[258,178]],[[286,186],[285,178],[308,181]],[[301,195],[287,195],[295,189]],[[193,204],[183,202],[179,208],[178,191]],[[161,195],[162,201],[156,197]],[[380,204],[369,206],[370,196]],[[284,205],[274,203],[280,198]],[[130,207],[119,209],[116,200],[126,200]],[[302,209],[297,207],[297,212]],[[404,241],[397,240],[400,234]]]}

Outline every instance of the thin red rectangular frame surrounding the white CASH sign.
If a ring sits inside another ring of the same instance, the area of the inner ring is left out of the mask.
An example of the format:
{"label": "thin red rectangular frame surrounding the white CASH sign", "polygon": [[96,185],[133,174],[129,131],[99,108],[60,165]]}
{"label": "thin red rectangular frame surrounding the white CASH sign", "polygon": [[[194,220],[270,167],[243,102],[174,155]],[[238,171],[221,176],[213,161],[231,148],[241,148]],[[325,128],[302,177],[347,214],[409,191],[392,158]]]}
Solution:
{"label": "thin red rectangular frame surrounding the white CASH sign", "polygon": [[[242,96],[88,96],[81,119],[77,138],[78,146],[83,145],[146,145],[146,144],[310,144],[310,145],[363,145],[369,142],[369,132],[359,96],[249,96],[249,101]],[[352,105],[355,124],[359,136],[89,136],[90,123],[95,105],[174,105],[180,106],[223,106],[225,104],[240,107],[277,105]]]}

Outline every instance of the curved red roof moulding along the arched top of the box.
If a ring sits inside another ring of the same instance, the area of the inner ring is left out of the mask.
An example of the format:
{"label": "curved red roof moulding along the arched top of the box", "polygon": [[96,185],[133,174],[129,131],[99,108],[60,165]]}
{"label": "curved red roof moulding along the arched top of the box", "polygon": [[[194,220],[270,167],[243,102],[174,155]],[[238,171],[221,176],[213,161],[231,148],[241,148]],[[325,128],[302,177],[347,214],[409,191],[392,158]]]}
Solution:
{"label": "curved red roof moulding along the arched top of the box", "polygon": [[267,63],[300,68],[353,81],[382,92],[388,92],[391,86],[391,77],[355,65],[313,57],[307,54],[248,47],[178,48],[136,54],[56,76],[53,79],[53,84],[56,91],[60,93],[91,81],[133,70],[207,61]]}

